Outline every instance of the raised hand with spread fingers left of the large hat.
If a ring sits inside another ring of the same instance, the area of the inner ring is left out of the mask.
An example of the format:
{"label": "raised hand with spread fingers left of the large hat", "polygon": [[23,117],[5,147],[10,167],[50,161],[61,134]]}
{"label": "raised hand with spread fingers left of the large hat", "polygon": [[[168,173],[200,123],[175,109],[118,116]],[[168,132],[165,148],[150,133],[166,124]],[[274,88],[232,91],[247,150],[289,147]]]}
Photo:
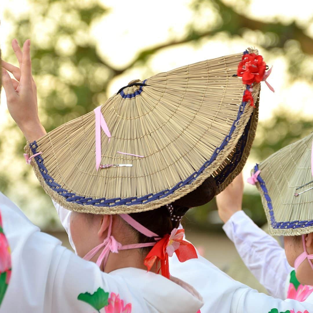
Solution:
{"label": "raised hand with spread fingers left of the large hat", "polygon": [[[12,48],[20,67],[2,61],[2,83],[7,96],[8,110],[28,141],[37,140],[46,134],[38,116],[37,88],[32,76],[30,40],[23,45],[23,52],[16,39]],[[11,79],[7,70],[15,78]]]}

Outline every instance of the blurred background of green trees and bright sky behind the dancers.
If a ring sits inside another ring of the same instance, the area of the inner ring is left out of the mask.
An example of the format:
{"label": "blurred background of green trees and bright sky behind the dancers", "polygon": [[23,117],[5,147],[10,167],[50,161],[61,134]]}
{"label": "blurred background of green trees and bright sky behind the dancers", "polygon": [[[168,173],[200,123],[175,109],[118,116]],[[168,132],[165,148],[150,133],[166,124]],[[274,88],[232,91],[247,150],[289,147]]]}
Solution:
{"label": "blurred background of green trees and bright sky behind the dancers", "polygon": [[[244,177],[255,162],[312,130],[310,1],[9,0],[1,3],[0,20],[4,60],[17,65],[12,39],[20,44],[31,39],[39,114],[47,131],[89,112],[133,79],[249,46],[273,65],[268,81],[276,91],[262,84],[259,126]],[[7,112],[4,92],[0,134],[0,190],[33,223],[62,237],[50,199],[25,165],[25,140]],[[258,225],[265,223],[253,186],[245,188],[243,207]],[[236,252],[221,232],[215,202],[192,209],[185,223],[203,254],[238,278],[234,266],[244,268],[233,261]]]}

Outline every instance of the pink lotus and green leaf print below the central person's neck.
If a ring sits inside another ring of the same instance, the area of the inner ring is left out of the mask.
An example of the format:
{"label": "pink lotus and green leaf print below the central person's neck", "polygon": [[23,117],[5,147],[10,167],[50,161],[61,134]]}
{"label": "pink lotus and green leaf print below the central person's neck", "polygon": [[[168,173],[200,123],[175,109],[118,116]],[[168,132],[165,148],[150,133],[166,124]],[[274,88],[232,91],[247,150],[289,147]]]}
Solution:
{"label": "pink lotus and green leaf print below the central person's neck", "polygon": [[131,303],[124,305],[124,301],[114,292],[111,292],[109,298],[109,293],[100,287],[93,294],[79,294],[77,299],[90,304],[99,313],[131,313]]}

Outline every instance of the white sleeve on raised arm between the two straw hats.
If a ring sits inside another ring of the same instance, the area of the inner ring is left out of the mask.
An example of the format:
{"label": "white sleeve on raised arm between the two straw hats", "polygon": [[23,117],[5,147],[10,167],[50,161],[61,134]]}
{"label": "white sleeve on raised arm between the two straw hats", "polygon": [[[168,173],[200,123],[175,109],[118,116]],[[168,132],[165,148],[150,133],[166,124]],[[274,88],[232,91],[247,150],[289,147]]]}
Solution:
{"label": "white sleeve on raised arm between the two straw hats", "polygon": [[285,250],[243,211],[233,214],[223,229],[244,264],[269,294],[285,299],[286,281],[293,270],[287,262]]}

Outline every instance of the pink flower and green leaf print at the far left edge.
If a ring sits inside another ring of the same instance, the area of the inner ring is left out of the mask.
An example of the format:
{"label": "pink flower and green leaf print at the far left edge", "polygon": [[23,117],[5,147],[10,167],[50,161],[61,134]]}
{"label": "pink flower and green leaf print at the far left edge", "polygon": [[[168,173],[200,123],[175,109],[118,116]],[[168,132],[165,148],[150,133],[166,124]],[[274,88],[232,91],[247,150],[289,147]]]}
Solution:
{"label": "pink flower and green leaf print at the far left edge", "polygon": [[2,218],[0,213],[0,304],[8,288],[11,278],[11,251],[8,240],[3,233]]}

